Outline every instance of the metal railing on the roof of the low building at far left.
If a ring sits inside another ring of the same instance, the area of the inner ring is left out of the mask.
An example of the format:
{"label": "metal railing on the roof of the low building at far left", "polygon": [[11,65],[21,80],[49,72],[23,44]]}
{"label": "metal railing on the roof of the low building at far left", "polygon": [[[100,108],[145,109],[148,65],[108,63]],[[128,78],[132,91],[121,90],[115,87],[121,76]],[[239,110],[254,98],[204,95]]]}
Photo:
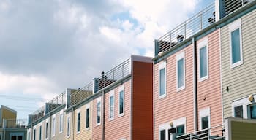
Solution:
{"label": "metal railing on the roof of the low building at far left", "polygon": [[26,128],[26,119],[4,119],[2,128]]}

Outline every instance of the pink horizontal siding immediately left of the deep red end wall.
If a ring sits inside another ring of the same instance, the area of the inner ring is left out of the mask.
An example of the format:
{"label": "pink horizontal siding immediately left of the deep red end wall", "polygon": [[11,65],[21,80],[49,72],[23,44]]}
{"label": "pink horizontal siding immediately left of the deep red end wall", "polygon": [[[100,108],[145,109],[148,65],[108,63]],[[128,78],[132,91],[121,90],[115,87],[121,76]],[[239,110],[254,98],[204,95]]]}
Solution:
{"label": "pink horizontal siding immediately left of the deep red end wall", "polygon": [[119,87],[114,90],[114,119],[109,120],[109,94],[105,94],[105,139],[130,139],[130,97],[131,97],[131,81],[124,84],[124,116],[118,117],[118,93]]}

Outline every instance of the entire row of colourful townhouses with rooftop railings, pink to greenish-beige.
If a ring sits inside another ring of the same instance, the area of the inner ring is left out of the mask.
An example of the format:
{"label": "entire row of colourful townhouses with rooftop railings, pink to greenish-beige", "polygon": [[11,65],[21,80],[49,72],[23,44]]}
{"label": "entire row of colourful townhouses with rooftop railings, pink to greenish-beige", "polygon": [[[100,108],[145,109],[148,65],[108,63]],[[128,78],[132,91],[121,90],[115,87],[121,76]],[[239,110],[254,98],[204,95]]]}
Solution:
{"label": "entire row of colourful townhouses with rooftop railings, pink to greenish-beige", "polygon": [[255,139],[256,1],[216,0],[29,115],[28,140]]}

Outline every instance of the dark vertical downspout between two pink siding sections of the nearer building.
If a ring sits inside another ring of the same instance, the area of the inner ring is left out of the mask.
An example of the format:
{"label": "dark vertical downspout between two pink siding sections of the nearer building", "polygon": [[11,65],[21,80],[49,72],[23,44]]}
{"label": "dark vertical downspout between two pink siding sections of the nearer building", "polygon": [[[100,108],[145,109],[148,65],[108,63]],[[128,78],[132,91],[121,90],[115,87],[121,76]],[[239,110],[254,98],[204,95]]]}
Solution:
{"label": "dark vertical downspout between two pink siding sections of the nearer building", "polygon": [[193,82],[194,82],[194,85],[193,85],[193,88],[194,88],[194,131],[197,131],[198,130],[198,125],[197,125],[197,122],[198,122],[198,117],[197,117],[197,45],[196,45],[196,42],[195,42],[195,37],[192,38],[192,45],[193,45]]}

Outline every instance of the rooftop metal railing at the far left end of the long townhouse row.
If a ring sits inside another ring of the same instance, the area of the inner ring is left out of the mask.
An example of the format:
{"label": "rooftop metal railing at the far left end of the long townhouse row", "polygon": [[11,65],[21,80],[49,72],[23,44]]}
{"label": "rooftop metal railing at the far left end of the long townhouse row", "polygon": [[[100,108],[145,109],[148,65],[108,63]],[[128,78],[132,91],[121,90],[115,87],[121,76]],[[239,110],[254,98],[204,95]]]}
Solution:
{"label": "rooftop metal railing at the far left end of the long townhouse row", "polygon": [[39,120],[41,117],[44,117],[45,114],[48,114],[48,112],[51,112],[53,109],[56,109],[63,104],[66,104],[66,101],[66,92],[59,94],[59,96],[56,96],[56,98],[48,101],[45,106],[42,106],[34,111],[32,114],[29,114],[29,123],[33,123],[36,120]]}

